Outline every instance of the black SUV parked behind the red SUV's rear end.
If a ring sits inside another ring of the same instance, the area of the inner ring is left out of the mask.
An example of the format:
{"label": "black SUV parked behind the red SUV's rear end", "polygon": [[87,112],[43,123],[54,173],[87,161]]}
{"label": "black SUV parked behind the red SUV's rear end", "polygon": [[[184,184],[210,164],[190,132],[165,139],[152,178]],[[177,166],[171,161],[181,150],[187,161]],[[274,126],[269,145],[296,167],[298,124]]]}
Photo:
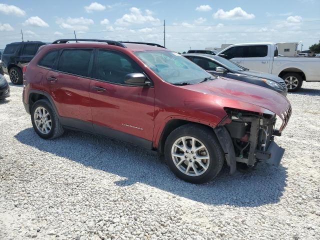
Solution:
{"label": "black SUV parked behind the red SUV's rear end", "polygon": [[1,56],[2,69],[0,69],[0,73],[9,74],[13,84],[22,84],[23,65],[31,61],[38,48],[45,44],[41,41],[22,41],[7,44]]}

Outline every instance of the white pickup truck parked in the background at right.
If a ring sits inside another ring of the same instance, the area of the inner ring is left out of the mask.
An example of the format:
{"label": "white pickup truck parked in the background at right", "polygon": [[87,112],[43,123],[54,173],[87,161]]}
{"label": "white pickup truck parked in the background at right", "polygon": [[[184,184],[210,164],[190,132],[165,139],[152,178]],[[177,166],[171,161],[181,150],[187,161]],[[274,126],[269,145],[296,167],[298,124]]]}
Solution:
{"label": "white pickup truck parked in the background at right", "polygon": [[275,43],[233,44],[216,55],[248,69],[277,75],[284,80],[288,91],[298,90],[303,81],[320,81],[320,58],[278,56]]}

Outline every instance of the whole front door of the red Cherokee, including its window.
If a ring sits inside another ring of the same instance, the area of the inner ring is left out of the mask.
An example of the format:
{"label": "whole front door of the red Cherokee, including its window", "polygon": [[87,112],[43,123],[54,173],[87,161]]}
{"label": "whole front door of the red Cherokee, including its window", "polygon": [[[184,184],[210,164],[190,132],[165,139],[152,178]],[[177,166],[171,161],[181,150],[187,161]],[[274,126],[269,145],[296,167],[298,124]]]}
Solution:
{"label": "whole front door of the red Cherokee, including its window", "polygon": [[105,49],[96,51],[94,68],[89,91],[95,131],[151,147],[154,88],[124,82],[126,74],[142,69],[125,54]]}

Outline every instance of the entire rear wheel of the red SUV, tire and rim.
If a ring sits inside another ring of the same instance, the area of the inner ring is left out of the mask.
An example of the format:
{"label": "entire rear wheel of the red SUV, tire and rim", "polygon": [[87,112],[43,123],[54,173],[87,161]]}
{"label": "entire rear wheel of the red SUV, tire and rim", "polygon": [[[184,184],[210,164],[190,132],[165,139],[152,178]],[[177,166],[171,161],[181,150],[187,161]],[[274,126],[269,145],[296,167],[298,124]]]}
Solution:
{"label": "entire rear wheel of the red SUV, tire and rim", "polygon": [[37,100],[32,105],[31,122],[35,132],[42,138],[53,139],[63,133],[58,116],[47,99]]}

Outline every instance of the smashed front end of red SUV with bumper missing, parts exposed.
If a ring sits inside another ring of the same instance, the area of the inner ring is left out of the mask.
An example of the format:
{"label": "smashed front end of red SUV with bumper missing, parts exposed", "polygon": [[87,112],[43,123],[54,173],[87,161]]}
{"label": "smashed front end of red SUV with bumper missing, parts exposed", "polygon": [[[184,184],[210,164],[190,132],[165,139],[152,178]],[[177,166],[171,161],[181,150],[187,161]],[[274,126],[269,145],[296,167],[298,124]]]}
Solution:
{"label": "smashed front end of red SUV with bumper missing, parts exposed", "polygon": [[225,152],[230,173],[235,171],[236,162],[253,166],[258,161],[267,160],[278,166],[284,149],[273,138],[281,135],[290,118],[291,106],[281,114],[279,129],[275,129],[276,114],[271,111],[259,113],[227,107],[224,110],[227,116],[214,131]]}

